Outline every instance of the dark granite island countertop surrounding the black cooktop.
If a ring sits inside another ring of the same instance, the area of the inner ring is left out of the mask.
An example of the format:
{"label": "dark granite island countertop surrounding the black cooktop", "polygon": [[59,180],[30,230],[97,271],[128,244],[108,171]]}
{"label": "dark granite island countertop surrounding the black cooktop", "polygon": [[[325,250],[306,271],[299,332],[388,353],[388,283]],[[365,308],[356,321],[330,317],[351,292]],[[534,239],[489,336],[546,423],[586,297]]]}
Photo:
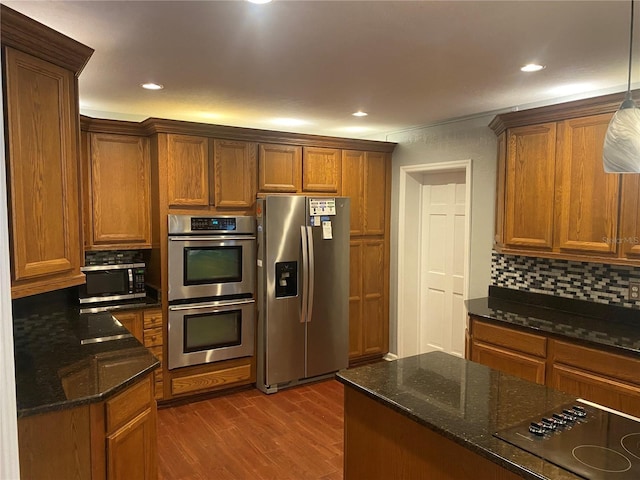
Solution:
{"label": "dark granite island countertop surrounding the black cooktop", "polygon": [[524,478],[582,478],[493,436],[574,396],[442,352],[342,370],[337,378]]}

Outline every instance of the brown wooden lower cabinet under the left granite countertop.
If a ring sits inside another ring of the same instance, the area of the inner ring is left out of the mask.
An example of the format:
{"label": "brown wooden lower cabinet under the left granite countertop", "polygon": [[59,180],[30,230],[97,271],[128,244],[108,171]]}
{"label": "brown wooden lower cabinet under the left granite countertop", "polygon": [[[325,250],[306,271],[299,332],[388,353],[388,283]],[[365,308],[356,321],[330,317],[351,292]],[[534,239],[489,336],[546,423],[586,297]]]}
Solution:
{"label": "brown wooden lower cabinet under the left granite countertop", "polygon": [[18,419],[21,480],[154,480],[151,375],[104,402]]}

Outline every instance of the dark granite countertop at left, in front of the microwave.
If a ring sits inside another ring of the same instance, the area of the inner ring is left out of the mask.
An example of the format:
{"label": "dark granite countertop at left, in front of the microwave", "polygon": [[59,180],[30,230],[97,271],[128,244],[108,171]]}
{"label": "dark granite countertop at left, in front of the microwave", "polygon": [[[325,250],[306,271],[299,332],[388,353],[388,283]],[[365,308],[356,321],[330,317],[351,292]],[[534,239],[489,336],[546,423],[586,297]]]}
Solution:
{"label": "dark granite countertop at left, in front of the microwave", "polygon": [[160,365],[110,313],[64,295],[14,301],[13,333],[18,417],[101,402]]}

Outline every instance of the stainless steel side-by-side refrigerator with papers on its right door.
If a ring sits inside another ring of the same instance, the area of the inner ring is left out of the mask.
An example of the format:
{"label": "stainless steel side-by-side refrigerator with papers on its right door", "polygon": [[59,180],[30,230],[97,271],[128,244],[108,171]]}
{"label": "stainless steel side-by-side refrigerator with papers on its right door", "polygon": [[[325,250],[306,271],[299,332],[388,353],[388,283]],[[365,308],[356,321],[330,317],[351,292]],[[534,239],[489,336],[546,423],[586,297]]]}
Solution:
{"label": "stainless steel side-by-side refrigerator with papers on its right door", "polygon": [[346,368],[349,199],[257,200],[257,387],[266,393]]}

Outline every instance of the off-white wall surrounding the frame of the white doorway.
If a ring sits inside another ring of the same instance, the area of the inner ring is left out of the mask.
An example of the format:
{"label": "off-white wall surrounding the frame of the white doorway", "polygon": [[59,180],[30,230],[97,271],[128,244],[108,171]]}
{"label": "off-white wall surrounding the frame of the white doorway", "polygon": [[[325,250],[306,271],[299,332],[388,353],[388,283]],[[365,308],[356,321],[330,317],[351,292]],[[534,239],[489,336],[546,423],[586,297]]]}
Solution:
{"label": "off-white wall surrounding the frame of the white doorway", "polygon": [[471,159],[471,258],[469,298],[484,297],[491,277],[497,138],[487,126],[494,115],[387,135],[398,144],[391,180],[391,281],[389,349],[397,353],[398,194],[400,167]]}

